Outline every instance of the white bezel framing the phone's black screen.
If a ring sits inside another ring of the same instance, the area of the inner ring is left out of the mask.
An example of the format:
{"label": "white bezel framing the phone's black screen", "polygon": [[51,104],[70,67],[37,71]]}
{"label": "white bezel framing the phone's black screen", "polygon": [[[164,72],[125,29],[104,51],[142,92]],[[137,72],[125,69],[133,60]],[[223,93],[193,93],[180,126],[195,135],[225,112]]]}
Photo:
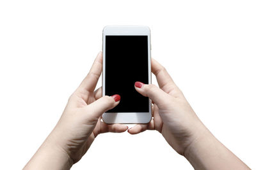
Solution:
{"label": "white bezel framing the phone's black screen", "polygon": [[[150,29],[147,26],[106,26],[102,34],[102,96],[105,96],[105,48],[106,36],[148,36],[148,83],[151,83],[151,43]],[[122,97],[121,97],[122,100]],[[152,118],[152,102],[149,99],[148,112],[103,113],[102,120],[107,124],[147,124]]]}

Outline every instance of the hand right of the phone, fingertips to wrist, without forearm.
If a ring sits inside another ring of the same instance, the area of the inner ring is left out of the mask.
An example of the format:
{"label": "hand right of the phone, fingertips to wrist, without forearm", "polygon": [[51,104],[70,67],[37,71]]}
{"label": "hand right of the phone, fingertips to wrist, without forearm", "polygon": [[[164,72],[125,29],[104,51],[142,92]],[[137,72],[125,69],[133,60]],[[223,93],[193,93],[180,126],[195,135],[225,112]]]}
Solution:
{"label": "hand right of the phone, fingertips to wrist, without forearm", "polygon": [[175,85],[166,69],[156,60],[151,62],[152,73],[156,75],[159,87],[137,81],[135,89],[152,99],[152,120],[148,124],[138,124],[128,130],[138,134],[147,129],[161,132],[166,141],[180,155],[193,141],[205,132],[204,125],[186,101],[180,89]]}

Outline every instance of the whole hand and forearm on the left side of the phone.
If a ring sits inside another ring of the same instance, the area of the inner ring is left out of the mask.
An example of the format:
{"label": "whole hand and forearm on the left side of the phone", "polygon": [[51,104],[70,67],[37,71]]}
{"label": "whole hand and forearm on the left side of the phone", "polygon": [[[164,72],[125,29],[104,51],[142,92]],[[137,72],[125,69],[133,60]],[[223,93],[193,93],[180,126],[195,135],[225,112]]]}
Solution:
{"label": "whole hand and forearm on the left side of the phone", "polygon": [[[42,165],[42,169],[50,167],[51,169],[53,167],[58,169],[59,167],[51,166],[49,162],[53,162],[52,164],[54,162],[60,164],[60,162],[47,160],[51,159],[51,155],[49,155],[51,152],[46,153],[45,149],[55,150],[54,153],[52,152],[52,155],[57,157],[55,159],[66,156],[67,158],[64,158],[66,160],[65,164],[67,164],[65,167],[70,168],[72,164],[75,164],[83,157],[98,134],[104,132],[125,132],[128,129],[127,125],[108,125],[101,121],[102,113],[114,108],[120,101],[120,96],[118,95],[102,97],[101,87],[95,90],[101,73],[102,52],[97,55],[90,72],[84,78],[81,85],[68,99],[67,106],[54,130],[49,134],[43,145],[24,169],[34,167],[31,164],[36,162],[38,162],[37,167],[42,162],[48,164],[48,166]],[[39,154],[38,152],[41,153]],[[58,153],[59,155],[56,155]],[[46,154],[45,157],[44,154]],[[60,169],[66,169],[65,167],[60,167]]]}

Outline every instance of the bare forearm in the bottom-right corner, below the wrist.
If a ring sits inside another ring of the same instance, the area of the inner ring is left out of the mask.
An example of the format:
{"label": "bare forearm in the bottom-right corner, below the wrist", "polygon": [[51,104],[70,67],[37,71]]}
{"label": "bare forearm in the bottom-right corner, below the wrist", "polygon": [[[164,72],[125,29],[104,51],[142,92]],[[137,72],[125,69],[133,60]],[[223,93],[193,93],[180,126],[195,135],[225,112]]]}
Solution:
{"label": "bare forearm in the bottom-right corner, below the wrist", "polygon": [[195,169],[250,169],[206,128],[189,145],[184,156]]}

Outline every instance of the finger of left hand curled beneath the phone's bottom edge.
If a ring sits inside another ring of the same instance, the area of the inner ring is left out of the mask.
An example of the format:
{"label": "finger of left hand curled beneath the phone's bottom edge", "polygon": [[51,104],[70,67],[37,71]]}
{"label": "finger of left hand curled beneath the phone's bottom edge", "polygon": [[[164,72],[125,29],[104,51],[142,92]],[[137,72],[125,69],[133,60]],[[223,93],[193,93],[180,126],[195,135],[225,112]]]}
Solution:
{"label": "finger of left hand curled beneath the phone's bottom edge", "polygon": [[111,124],[108,125],[105,122],[100,122],[100,133],[106,133],[106,132],[115,132],[115,133],[120,133],[120,132],[125,132],[128,129],[127,125],[122,125],[122,124]]}

